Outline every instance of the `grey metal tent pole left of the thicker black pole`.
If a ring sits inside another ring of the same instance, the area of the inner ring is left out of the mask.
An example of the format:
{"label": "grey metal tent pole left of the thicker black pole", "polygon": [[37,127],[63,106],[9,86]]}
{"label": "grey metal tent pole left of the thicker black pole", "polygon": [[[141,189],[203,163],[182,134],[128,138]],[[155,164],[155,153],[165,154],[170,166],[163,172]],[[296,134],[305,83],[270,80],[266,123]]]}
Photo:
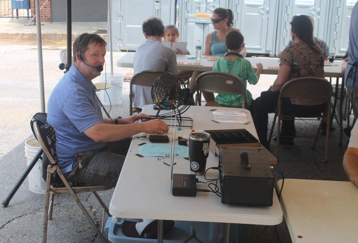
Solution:
{"label": "grey metal tent pole left of the thicker black pole", "polygon": [[[36,13],[40,15],[40,1],[36,0]],[[41,112],[45,113],[45,89],[44,89],[44,67],[42,61],[42,39],[41,39],[41,16],[37,18],[37,53],[39,56],[39,80],[40,80],[40,101]]]}

